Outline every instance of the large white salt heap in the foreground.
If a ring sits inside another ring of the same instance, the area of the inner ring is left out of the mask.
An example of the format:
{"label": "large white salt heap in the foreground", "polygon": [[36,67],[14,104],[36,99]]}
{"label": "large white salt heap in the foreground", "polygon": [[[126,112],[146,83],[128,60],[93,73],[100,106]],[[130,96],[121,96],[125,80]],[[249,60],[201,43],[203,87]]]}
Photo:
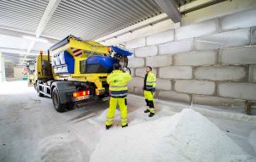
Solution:
{"label": "large white salt heap in the foreground", "polygon": [[193,109],[104,131],[90,162],[256,161]]}

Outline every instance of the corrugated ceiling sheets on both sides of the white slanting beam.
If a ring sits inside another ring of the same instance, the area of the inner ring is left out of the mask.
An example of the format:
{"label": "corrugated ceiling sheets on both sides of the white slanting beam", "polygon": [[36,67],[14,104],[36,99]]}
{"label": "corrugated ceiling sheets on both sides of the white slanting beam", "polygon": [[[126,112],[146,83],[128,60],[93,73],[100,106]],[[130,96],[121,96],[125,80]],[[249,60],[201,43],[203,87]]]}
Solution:
{"label": "corrugated ceiling sheets on both sides of the white slanting beam", "polygon": [[[1,0],[0,26],[35,32],[47,4],[48,0]],[[154,0],[62,0],[42,35],[95,40],[161,13]]]}

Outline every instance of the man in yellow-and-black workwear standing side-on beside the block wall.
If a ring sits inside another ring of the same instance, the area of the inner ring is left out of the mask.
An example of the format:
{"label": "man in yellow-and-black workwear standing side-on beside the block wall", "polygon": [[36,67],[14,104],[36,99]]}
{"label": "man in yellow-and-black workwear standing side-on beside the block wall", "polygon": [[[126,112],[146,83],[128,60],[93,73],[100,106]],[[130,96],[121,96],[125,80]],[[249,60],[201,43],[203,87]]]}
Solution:
{"label": "man in yellow-and-black workwear standing side-on beside the block wall", "polygon": [[146,67],[146,75],[144,78],[144,97],[147,103],[147,109],[144,113],[150,113],[148,117],[154,116],[154,92],[156,87],[156,77],[152,72],[152,68],[150,66]]}

